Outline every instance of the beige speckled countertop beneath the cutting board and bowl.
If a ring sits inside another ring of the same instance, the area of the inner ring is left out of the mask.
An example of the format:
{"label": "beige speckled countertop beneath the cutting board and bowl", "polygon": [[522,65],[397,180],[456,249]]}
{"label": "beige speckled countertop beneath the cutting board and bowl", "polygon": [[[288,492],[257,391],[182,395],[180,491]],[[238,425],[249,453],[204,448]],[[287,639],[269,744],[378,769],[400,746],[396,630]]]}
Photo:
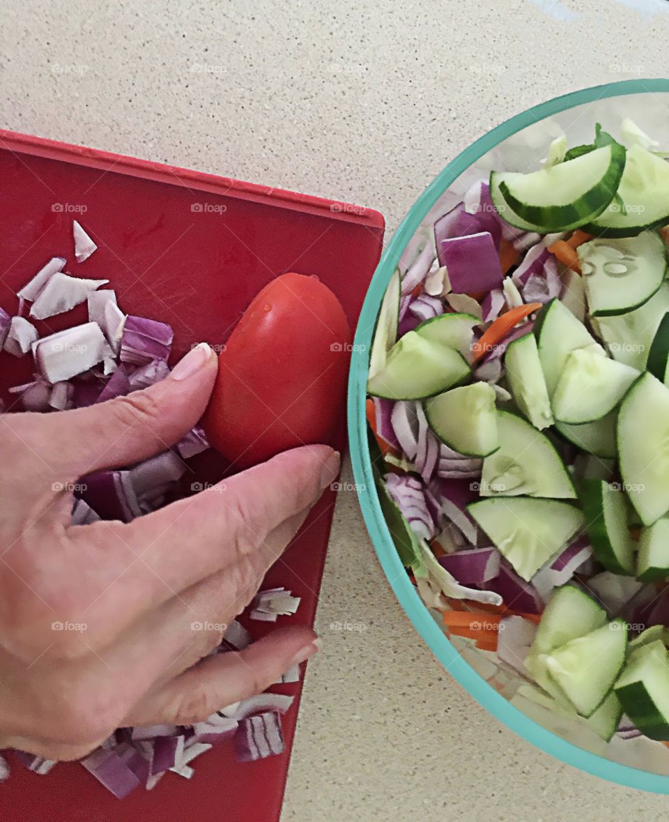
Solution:
{"label": "beige speckled countertop beneath the cutting board and bowl", "polygon": [[[371,205],[390,232],[510,114],[667,72],[664,0],[7,0],[3,12],[2,126]],[[520,741],[448,677],[399,610],[353,492],[340,494],[317,628],[284,822],[669,818],[667,799]]]}

